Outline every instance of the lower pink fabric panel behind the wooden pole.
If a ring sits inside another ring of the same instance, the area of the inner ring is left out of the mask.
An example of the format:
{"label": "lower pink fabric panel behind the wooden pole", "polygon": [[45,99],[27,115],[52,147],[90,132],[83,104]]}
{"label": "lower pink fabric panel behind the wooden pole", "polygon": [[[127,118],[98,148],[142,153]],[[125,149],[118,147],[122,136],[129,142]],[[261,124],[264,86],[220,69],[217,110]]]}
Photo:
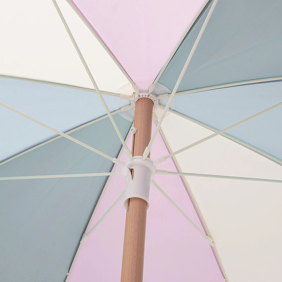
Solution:
{"label": "lower pink fabric panel behind the wooden pole", "polygon": [[[153,127],[154,124],[153,124]],[[131,140],[128,141],[131,146]],[[152,146],[151,158],[168,153],[157,135]],[[125,154],[122,160],[127,160]],[[176,171],[171,159],[158,169]],[[117,168],[116,170],[120,170]],[[156,175],[157,184],[200,227],[201,223],[179,176]],[[122,177],[111,178],[91,227],[102,217],[125,189]],[[144,257],[144,282],[223,282],[210,245],[178,210],[154,187],[150,188],[150,208],[147,212],[147,228]],[[76,281],[120,281],[124,240],[125,209],[123,200],[109,213],[83,243],[69,276]]]}

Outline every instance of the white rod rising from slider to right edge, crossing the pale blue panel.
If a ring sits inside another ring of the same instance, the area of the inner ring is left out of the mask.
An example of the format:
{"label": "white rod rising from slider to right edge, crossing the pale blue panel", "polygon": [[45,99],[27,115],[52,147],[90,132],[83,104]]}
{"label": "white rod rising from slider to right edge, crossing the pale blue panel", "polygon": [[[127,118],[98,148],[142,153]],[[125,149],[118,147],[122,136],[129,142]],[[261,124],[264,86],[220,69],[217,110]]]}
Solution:
{"label": "white rod rising from slider to right edge, crossing the pale blue panel", "polygon": [[252,120],[253,118],[256,118],[256,117],[258,117],[258,116],[260,116],[260,115],[262,115],[264,113],[267,113],[267,112],[269,112],[269,111],[271,111],[273,109],[276,109],[277,107],[280,107],[281,105],[282,105],[282,102],[280,102],[280,103],[278,103],[278,104],[276,104],[276,105],[274,105],[272,107],[269,107],[268,109],[265,109],[265,110],[263,110],[263,111],[261,111],[261,112],[259,112],[257,114],[254,114],[254,115],[252,115],[252,116],[250,116],[248,118],[245,118],[244,120],[241,120],[240,122],[237,122],[237,123],[235,123],[233,125],[230,125],[230,126],[224,128],[224,129],[222,129],[222,130],[220,130],[218,132],[213,133],[212,135],[209,135],[209,136],[207,136],[205,138],[202,138],[201,140],[199,140],[197,142],[194,142],[193,144],[190,144],[190,145],[188,145],[188,146],[186,146],[186,147],[184,147],[182,149],[179,149],[179,150],[177,150],[177,151],[175,151],[175,152],[173,152],[173,153],[171,153],[171,154],[169,154],[169,155],[167,155],[165,157],[159,158],[159,159],[155,160],[155,163],[159,164],[161,162],[164,162],[166,159],[168,159],[168,158],[170,158],[172,156],[175,156],[175,155],[177,155],[177,154],[179,154],[181,152],[184,152],[184,151],[186,151],[186,150],[188,150],[188,149],[190,149],[190,148],[192,148],[192,147],[194,147],[196,145],[199,145],[199,144],[201,144],[201,143],[203,143],[203,142],[205,142],[207,140],[210,140],[211,138],[213,138],[213,137],[215,137],[217,135],[221,135],[221,133],[224,133],[225,131],[228,131],[228,130],[230,130],[230,129],[238,126],[238,125],[241,125],[241,124],[243,124],[243,123],[245,123],[245,122],[247,122],[249,120]]}

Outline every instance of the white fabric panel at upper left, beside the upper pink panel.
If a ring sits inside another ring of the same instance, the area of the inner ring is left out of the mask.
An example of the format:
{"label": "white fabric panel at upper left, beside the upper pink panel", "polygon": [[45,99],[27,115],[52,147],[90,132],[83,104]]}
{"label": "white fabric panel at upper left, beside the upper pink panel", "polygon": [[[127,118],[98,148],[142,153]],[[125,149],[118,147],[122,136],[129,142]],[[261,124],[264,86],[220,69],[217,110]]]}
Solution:
{"label": "white fabric panel at upper left, beside the upper pink panel", "polygon": [[[64,2],[62,12],[98,87],[117,91],[127,79]],[[93,88],[51,0],[1,1],[0,18],[0,74]]]}

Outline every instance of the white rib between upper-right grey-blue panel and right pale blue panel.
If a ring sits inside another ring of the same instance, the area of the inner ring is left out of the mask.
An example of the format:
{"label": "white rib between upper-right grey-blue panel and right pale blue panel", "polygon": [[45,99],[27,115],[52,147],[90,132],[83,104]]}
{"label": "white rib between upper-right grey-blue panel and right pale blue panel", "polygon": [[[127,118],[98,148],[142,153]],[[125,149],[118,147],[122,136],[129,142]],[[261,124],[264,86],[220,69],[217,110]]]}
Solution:
{"label": "white rib between upper-right grey-blue panel and right pale blue panel", "polygon": [[[227,83],[227,84],[221,84],[221,85],[215,85],[215,86],[209,86],[209,87],[203,87],[203,88],[198,88],[198,89],[191,89],[187,91],[176,92],[175,95],[191,94],[191,93],[213,90],[213,89],[220,89],[220,88],[227,88],[227,87],[234,87],[234,86],[248,85],[248,84],[267,83],[267,82],[274,82],[274,81],[281,81],[281,80],[282,80],[282,76],[253,79],[253,80],[239,81],[239,82],[233,82],[233,83]],[[171,94],[169,93],[160,94],[160,95],[157,95],[157,99],[168,98],[170,95]]]}

